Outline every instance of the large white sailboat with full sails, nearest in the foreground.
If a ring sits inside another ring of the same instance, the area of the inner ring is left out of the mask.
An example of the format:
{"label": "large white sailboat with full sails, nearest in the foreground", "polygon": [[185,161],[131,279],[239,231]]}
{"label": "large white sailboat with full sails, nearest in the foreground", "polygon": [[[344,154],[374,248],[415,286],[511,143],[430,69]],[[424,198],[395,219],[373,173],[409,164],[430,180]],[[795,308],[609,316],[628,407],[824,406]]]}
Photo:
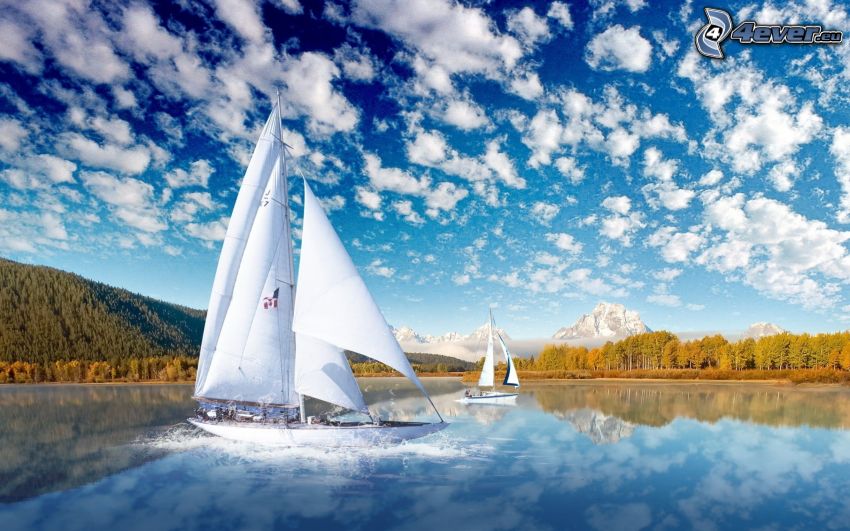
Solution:
{"label": "large white sailboat with full sails, nearest in the foreground", "polygon": [[[279,109],[278,101],[251,156],[222,245],[195,381],[199,408],[189,422],[230,439],[284,445],[365,446],[443,429],[446,423],[306,180],[295,289],[289,152]],[[399,371],[440,421],[371,414],[345,350]],[[304,396],[361,413],[364,420],[308,416]]]}

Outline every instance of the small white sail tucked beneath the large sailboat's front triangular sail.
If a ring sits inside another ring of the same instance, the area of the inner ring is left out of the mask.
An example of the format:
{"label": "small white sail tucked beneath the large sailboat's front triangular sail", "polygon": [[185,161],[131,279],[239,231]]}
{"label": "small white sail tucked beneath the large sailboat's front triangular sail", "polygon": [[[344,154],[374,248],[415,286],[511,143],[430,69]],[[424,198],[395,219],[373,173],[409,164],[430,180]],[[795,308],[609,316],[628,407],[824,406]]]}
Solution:
{"label": "small white sail tucked beneath the large sailboat's front triangular sail", "polygon": [[299,393],[368,413],[342,350],[306,334],[297,334],[295,344],[295,385]]}

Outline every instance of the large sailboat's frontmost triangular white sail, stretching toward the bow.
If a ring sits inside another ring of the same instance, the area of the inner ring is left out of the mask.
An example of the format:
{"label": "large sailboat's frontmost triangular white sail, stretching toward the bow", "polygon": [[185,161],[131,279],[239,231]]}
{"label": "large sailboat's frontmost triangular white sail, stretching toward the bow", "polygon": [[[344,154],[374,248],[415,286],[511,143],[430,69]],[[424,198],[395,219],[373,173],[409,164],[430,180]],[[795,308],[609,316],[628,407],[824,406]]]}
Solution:
{"label": "large sailboat's frontmost triangular white sail, stretching toward the bow", "polygon": [[[427,396],[306,181],[292,328],[298,337],[308,335],[389,365]],[[301,355],[299,351],[298,357]],[[300,387],[297,381],[296,385]]]}

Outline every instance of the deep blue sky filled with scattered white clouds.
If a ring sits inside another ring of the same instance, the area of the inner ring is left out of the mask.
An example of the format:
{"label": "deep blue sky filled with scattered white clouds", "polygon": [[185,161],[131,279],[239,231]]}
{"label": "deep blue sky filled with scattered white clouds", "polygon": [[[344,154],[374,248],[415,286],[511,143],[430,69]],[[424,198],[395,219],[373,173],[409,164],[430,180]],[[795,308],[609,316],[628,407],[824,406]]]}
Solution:
{"label": "deep blue sky filled with scattered white clouds", "polygon": [[[712,61],[702,4],[641,0],[0,3],[2,256],[206,307],[277,87],[396,326],[850,321],[846,44]],[[850,31],[828,1],[722,7]]]}

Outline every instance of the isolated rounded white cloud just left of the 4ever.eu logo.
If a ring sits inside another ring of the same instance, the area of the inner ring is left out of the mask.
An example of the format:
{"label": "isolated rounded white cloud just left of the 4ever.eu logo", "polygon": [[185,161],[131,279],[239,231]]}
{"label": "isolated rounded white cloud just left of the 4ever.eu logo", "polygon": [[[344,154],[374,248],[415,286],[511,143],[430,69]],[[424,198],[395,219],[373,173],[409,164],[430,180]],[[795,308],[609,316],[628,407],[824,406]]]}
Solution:
{"label": "isolated rounded white cloud just left of the 4ever.eu logo", "polygon": [[646,72],[652,62],[652,45],[640,34],[640,26],[616,24],[596,35],[587,45],[585,61],[594,70]]}

